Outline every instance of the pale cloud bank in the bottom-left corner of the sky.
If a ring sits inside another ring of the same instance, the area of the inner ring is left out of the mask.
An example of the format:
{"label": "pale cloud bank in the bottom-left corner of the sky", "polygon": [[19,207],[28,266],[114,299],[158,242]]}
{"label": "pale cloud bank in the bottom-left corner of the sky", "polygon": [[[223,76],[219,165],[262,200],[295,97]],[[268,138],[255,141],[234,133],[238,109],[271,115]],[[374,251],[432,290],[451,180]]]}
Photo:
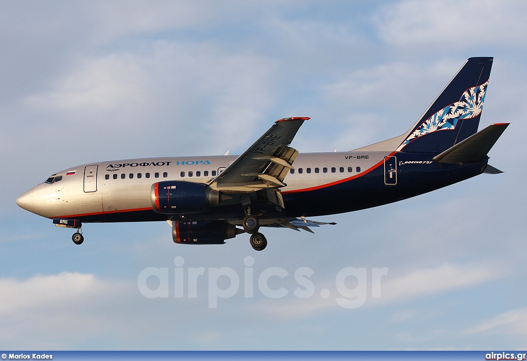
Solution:
{"label": "pale cloud bank in the bottom-left corner of the sky", "polygon": [[108,308],[130,289],[122,282],[70,272],[0,279],[0,342],[6,348],[57,349],[108,333]]}

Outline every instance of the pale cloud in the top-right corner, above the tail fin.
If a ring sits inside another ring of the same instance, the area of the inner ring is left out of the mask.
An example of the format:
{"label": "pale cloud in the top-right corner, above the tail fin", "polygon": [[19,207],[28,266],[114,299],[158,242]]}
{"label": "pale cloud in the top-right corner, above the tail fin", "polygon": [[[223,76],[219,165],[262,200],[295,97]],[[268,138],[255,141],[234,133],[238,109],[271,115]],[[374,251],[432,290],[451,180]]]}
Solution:
{"label": "pale cloud in the top-right corner, above the tail fin", "polygon": [[[450,44],[450,49],[523,42],[524,1],[407,0],[383,6],[376,17],[380,36],[398,46]],[[437,49],[441,51],[441,49]]]}

